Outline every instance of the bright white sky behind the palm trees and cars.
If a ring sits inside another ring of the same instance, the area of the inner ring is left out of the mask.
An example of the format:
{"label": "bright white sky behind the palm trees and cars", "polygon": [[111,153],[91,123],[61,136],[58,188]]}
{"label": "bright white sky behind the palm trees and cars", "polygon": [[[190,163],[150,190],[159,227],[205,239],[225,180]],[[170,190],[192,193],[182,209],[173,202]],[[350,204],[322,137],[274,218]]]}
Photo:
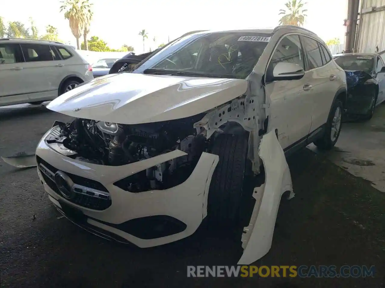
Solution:
{"label": "bright white sky behind the palm trees and cars", "polygon": [[[111,48],[123,44],[134,46],[142,53],[143,43],[139,31],[145,29],[148,39],[146,51],[154,50],[161,43],[181,36],[192,30],[267,28],[278,25],[280,9],[285,9],[287,0],[90,0],[94,3],[94,17],[90,36],[99,36]],[[303,0],[306,2],[306,0]],[[323,40],[340,38],[345,42],[343,19],[347,16],[347,0],[307,0],[308,9],[305,28],[314,31]],[[69,28],[68,20],[59,12],[59,0],[22,0],[15,9],[12,1],[2,1],[0,16],[5,21],[20,21],[28,25],[32,17],[39,33],[45,26],[58,28],[62,41],[75,46],[76,40]],[[6,12],[6,13],[5,13]],[[153,38],[156,41],[153,41]]]}

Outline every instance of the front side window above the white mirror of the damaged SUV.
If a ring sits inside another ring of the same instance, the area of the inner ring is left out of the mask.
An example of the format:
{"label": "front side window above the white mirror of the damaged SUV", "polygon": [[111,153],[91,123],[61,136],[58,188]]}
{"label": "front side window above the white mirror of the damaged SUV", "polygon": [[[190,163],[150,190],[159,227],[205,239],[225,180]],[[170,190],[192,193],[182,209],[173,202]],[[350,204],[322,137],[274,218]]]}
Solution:
{"label": "front side window above the white mirror of the damaged SUV", "polygon": [[303,50],[298,35],[285,36],[276,46],[269,64],[268,74],[273,73],[275,65],[279,62],[294,63],[300,65],[305,70]]}

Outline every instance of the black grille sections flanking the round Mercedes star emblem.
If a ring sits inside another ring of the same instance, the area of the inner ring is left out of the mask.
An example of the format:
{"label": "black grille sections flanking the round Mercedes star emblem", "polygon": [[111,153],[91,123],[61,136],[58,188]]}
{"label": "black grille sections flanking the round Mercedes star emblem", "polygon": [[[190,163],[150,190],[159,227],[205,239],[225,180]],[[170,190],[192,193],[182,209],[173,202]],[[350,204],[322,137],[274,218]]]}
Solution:
{"label": "black grille sections flanking the round Mercedes star emblem", "polygon": [[[58,169],[41,159],[39,156],[36,157],[36,160],[45,183],[47,183],[56,194],[61,196],[62,194],[54,181],[54,174]],[[108,190],[101,183],[67,172],[65,172],[65,174],[67,174],[74,182],[73,197],[67,200],[93,210],[105,210],[111,206],[112,201]]]}

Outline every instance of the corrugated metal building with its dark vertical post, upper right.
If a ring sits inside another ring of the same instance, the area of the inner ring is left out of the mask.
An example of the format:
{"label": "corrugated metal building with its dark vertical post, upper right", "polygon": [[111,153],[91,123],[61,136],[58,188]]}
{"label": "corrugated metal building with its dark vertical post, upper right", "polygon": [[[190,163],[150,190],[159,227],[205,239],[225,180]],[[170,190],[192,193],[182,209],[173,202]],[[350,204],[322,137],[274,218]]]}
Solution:
{"label": "corrugated metal building with its dark vertical post, upper right", "polygon": [[[358,17],[357,17],[358,16]],[[351,20],[350,20],[350,19]],[[358,21],[355,20],[358,18]],[[350,47],[362,53],[385,53],[385,0],[349,0],[348,20],[352,29],[357,28],[355,39],[350,40]],[[357,23],[357,24],[356,24]],[[355,27],[357,25],[357,27]],[[350,26],[350,27],[349,27]],[[346,35],[348,44],[349,35]],[[348,49],[348,45],[346,45]]]}

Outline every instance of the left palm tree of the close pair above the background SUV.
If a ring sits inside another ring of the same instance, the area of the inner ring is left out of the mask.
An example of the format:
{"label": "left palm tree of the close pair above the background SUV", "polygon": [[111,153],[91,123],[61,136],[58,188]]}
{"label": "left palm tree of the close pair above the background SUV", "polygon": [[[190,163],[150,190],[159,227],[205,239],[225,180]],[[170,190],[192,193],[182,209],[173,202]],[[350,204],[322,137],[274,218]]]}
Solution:
{"label": "left palm tree of the close pair above the background SUV", "polygon": [[65,0],[60,6],[60,12],[64,11],[64,18],[69,20],[72,35],[76,38],[77,48],[80,49],[79,38],[82,36],[84,28],[84,11],[81,7],[80,0]]}

